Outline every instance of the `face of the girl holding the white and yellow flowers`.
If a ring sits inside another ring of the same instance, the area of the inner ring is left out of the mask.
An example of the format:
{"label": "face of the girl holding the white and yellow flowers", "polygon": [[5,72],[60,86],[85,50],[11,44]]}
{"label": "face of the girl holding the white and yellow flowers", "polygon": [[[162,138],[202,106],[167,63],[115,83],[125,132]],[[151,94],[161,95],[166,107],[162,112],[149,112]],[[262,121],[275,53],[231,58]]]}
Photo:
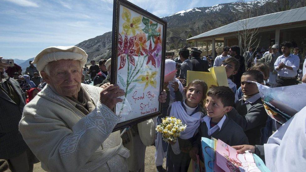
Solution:
{"label": "face of the girl holding the white and yellow flowers", "polygon": [[190,86],[186,92],[186,104],[189,107],[197,107],[204,94],[201,85],[197,84]]}

